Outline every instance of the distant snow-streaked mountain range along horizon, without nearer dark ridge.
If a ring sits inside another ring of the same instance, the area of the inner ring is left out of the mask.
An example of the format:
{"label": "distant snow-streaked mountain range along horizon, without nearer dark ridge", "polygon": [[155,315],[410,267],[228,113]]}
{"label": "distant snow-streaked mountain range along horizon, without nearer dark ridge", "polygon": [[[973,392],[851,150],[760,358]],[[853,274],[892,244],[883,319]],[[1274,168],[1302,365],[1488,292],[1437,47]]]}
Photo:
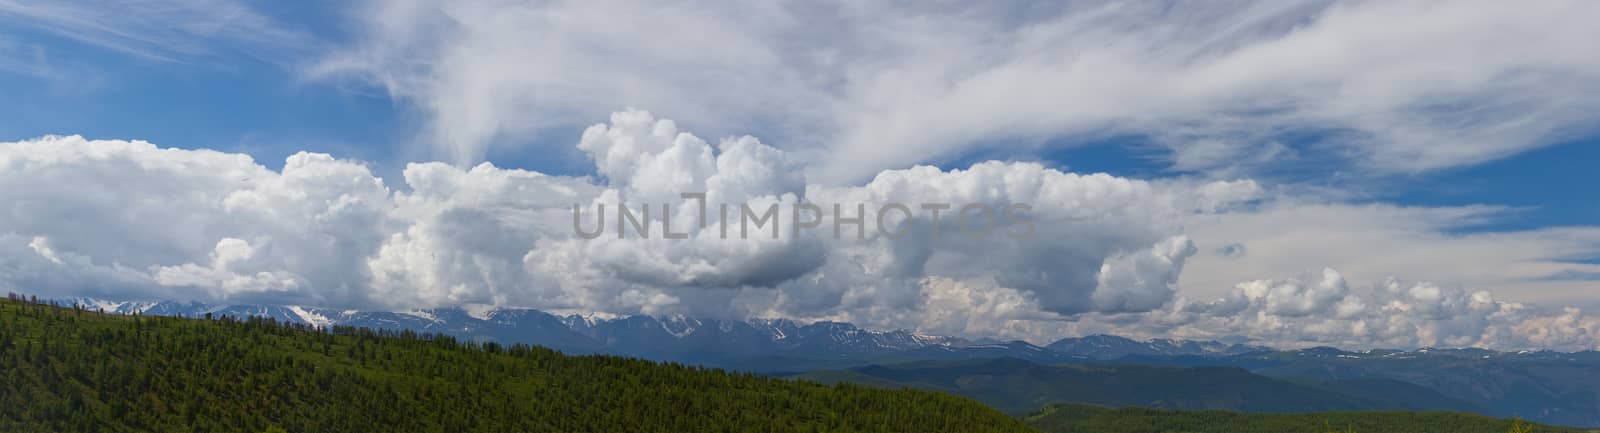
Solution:
{"label": "distant snow-streaked mountain range along horizon, without nearer dark ridge", "polygon": [[[773,356],[786,352],[810,352],[810,358],[845,360],[861,355],[914,355],[946,360],[952,353],[987,353],[1035,363],[1114,361],[1162,366],[1240,366],[1282,364],[1285,356],[1315,360],[1411,360],[1411,358],[1478,358],[1478,360],[1582,360],[1600,363],[1600,352],[1496,352],[1485,348],[1418,348],[1418,350],[1341,350],[1312,347],[1278,350],[1264,345],[1224,344],[1214,340],[1149,339],[1120,336],[1066,337],[1048,345],[1022,340],[963,339],[930,336],[912,331],[870,331],[850,323],[818,321],[802,324],[790,320],[710,320],[683,315],[670,316],[584,316],[552,315],[517,307],[443,307],[411,312],[365,312],[301,305],[213,305],[179,300],[117,302],[94,297],[56,299],[62,305],[83,305],[107,313],[142,313],[163,316],[264,316],[314,326],[365,326],[445,332],[467,339],[538,344],[573,353],[627,353],[642,358],[683,355],[696,344],[723,347],[746,345],[749,355]],[[688,347],[685,347],[688,345]],[[710,350],[718,352],[718,350]],[[944,355],[941,355],[944,353]],[[1285,355],[1288,353],[1288,355]],[[888,361],[906,356],[888,356]],[[925,358],[909,358],[925,360]],[[880,360],[861,360],[880,361]]]}

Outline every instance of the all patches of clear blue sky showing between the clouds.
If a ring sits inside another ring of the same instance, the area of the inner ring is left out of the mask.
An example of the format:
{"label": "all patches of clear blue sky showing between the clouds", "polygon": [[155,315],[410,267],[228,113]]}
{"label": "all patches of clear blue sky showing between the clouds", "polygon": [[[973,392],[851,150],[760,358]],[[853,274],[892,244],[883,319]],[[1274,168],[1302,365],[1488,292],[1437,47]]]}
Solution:
{"label": "all patches of clear blue sky showing between the clouds", "polygon": [[[275,5],[283,6],[283,5]],[[339,11],[309,8],[264,13],[293,21],[306,30],[339,42]],[[371,161],[397,173],[406,161],[427,155],[408,147],[419,113],[408,101],[382,89],[306,80],[293,64],[275,64],[211,46],[218,58],[179,62],[131,56],[117,50],[8,26],[6,40],[24,51],[43,53],[62,75],[3,70],[0,93],[13,104],[0,105],[0,139],[18,141],[45,134],[144,139],[166,147],[218,149],[250,153],[267,166],[301,150]],[[573,142],[581,128],[557,128],[528,141],[549,147]],[[990,149],[973,155],[923,163],[965,166],[973,161],[1038,160],[1083,173],[1130,177],[1190,176],[1173,169],[1170,149],[1139,136],[1048,137],[1054,150]],[[1592,161],[1600,160],[1600,136],[1581,136],[1544,149],[1504,158],[1394,176],[1341,176],[1336,160],[1312,160],[1293,171],[1267,173],[1282,182],[1352,184],[1370,200],[1419,206],[1506,205],[1523,208],[1517,216],[1477,228],[1536,228],[1581,225],[1600,220],[1600,190]],[[499,166],[552,174],[592,174],[578,152],[523,152],[517,145],[486,160]]]}

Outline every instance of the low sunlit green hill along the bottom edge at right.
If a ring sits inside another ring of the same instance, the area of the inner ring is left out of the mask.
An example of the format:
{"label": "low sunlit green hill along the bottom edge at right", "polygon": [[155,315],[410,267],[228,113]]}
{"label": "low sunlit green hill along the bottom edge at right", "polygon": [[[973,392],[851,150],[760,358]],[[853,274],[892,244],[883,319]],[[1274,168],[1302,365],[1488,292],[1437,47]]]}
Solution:
{"label": "low sunlit green hill along the bottom edge at right", "polygon": [[1224,411],[1107,409],[1058,404],[1029,415],[1045,433],[1581,433],[1458,412],[1240,414]]}

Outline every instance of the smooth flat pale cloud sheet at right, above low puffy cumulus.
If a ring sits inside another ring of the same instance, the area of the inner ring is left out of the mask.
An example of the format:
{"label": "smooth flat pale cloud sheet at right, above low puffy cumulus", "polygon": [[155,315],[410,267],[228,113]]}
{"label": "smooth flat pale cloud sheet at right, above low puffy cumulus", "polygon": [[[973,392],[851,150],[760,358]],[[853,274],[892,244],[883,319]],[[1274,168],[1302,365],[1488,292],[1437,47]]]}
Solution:
{"label": "smooth flat pale cloud sheet at right, above low puffy cumulus", "polygon": [[1597,270],[1590,259],[1600,256],[1600,228],[1483,228],[1518,213],[1499,206],[1350,205],[1283,193],[1251,209],[1190,219],[1186,233],[1203,249],[1238,246],[1248,254],[1197,254],[1181,284],[1211,297],[1238,281],[1331,267],[1357,281],[1406,276],[1486,289],[1517,302],[1594,302],[1594,281],[1557,276]]}

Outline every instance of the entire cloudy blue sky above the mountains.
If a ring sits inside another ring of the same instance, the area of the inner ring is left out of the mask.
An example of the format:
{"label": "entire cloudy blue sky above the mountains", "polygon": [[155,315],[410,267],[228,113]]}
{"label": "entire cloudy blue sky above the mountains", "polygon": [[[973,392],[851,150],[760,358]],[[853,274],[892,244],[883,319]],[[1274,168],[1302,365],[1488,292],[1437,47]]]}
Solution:
{"label": "entire cloudy blue sky above the mountains", "polygon": [[[1597,19],[1592,2],[0,0],[0,288],[1595,350]],[[819,217],[1024,203],[1032,233],[573,233],[574,205],[670,203],[682,224],[683,192]]]}

